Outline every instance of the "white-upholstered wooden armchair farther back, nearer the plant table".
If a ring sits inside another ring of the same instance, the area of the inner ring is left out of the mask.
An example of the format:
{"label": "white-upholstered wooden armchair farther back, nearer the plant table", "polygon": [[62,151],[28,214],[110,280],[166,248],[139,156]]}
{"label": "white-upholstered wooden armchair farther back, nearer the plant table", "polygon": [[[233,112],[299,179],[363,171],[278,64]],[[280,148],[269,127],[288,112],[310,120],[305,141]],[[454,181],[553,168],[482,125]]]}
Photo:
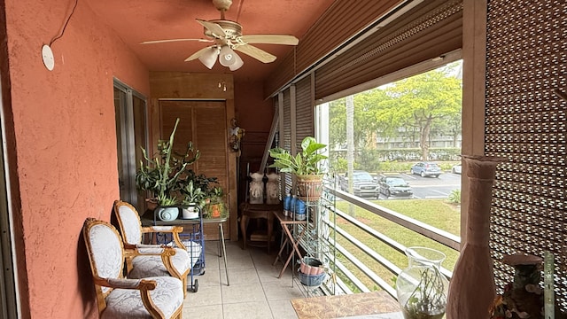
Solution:
{"label": "white-upholstered wooden armchair farther back, nearer the plant table", "polygon": [[[142,227],[140,216],[134,206],[120,200],[114,201],[114,214],[120,226],[124,247],[128,251],[127,270],[129,278],[142,278],[144,276],[175,276],[183,281],[187,287],[187,276],[189,274],[191,261],[186,247],[179,238],[183,227],[179,226],[154,226]],[[162,249],[164,245],[144,245],[142,236],[144,233],[171,233],[175,247],[175,255],[164,258],[155,253],[156,249]],[[186,290],[185,290],[186,291]]]}

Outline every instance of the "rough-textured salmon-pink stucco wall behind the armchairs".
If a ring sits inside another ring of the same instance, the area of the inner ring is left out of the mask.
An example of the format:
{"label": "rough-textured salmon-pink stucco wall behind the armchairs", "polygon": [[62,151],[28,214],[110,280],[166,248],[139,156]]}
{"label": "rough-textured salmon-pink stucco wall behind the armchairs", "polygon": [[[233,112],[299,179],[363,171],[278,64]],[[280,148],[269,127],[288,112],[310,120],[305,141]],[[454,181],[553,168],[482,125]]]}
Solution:
{"label": "rough-textured salmon-pink stucco wall behind the armchairs", "polygon": [[[96,317],[82,222],[109,220],[119,197],[113,77],[149,93],[148,72],[89,5],[6,0],[12,113],[32,318]],[[4,71],[3,71],[4,72]],[[12,151],[13,152],[13,151]],[[24,305],[27,307],[27,305]]]}

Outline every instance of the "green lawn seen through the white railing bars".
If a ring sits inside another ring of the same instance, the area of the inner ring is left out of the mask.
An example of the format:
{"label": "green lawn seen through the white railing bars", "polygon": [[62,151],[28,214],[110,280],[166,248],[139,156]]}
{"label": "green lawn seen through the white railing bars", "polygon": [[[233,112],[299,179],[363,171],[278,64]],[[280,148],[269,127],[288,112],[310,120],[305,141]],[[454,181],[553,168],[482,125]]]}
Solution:
{"label": "green lawn seen through the white railing bars", "polygon": [[[425,222],[433,227],[445,230],[454,235],[459,235],[461,213],[458,206],[448,204],[445,199],[394,199],[394,200],[377,200],[378,205],[387,207],[400,214],[405,214],[408,217],[414,218],[420,222]],[[337,202],[337,208],[343,212],[348,212],[349,203]],[[458,257],[458,252],[445,245],[441,245],[423,235],[417,234],[412,230],[408,230],[394,222],[387,221],[377,214],[369,213],[368,211],[360,208],[354,208],[354,215],[356,219],[377,230],[387,237],[406,246],[424,246],[437,249],[447,255],[447,260],[443,262],[442,266],[449,270],[453,270],[454,263]],[[356,237],[365,245],[368,245],[377,253],[380,253],[393,264],[400,268],[408,267],[408,259],[405,254],[398,253],[397,251],[385,245],[383,242],[374,237],[369,236],[365,231],[358,229],[353,224],[346,222],[341,218],[337,218],[337,226],[348,231],[353,237]],[[358,248],[348,242],[344,237],[337,236],[338,243],[343,245],[350,253],[353,253],[361,262],[367,267],[371,268],[378,276],[382,277],[386,282],[394,284],[395,275],[382,267],[377,261],[374,261],[366,253],[361,252]],[[351,262],[346,261],[344,257],[338,256],[339,261],[346,264],[349,270],[358,276],[361,281],[370,289],[378,289],[365,276],[358,268]],[[343,278],[344,279],[344,278]]]}

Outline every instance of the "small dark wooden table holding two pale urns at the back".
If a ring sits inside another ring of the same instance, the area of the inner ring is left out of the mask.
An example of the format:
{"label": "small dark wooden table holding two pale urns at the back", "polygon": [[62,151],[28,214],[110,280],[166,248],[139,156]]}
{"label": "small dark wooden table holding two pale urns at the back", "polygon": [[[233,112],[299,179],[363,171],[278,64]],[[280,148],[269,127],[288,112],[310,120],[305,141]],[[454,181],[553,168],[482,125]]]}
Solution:
{"label": "small dark wooden table holding two pale urns at the back", "polygon": [[240,212],[242,213],[240,219],[240,231],[242,231],[243,249],[246,249],[246,241],[248,240],[246,229],[248,228],[248,221],[252,218],[263,218],[268,222],[268,237],[267,246],[268,254],[270,242],[272,240],[272,233],[274,232],[274,213],[283,212],[283,205],[276,204],[250,204],[242,203],[240,205]]}

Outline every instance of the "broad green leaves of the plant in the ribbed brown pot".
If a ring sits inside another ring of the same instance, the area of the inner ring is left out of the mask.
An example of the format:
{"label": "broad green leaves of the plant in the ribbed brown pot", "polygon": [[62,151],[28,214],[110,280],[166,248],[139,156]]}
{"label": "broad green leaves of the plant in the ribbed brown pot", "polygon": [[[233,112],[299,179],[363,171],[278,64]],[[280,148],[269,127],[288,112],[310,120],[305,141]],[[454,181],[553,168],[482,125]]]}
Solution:
{"label": "broad green leaves of the plant in the ribbed brown pot", "polygon": [[315,141],[312,136],[307,136],[301,142],[302,152],[292,156],[290,152],[283,148],[276,147],[269,150],[269,155],[274,159],[274,164],[269,167],[277,167],[283,173],[295,175],[319,175],[322,171],[319,162],[327,159],[327,156],[317,153],[327,147]]}

